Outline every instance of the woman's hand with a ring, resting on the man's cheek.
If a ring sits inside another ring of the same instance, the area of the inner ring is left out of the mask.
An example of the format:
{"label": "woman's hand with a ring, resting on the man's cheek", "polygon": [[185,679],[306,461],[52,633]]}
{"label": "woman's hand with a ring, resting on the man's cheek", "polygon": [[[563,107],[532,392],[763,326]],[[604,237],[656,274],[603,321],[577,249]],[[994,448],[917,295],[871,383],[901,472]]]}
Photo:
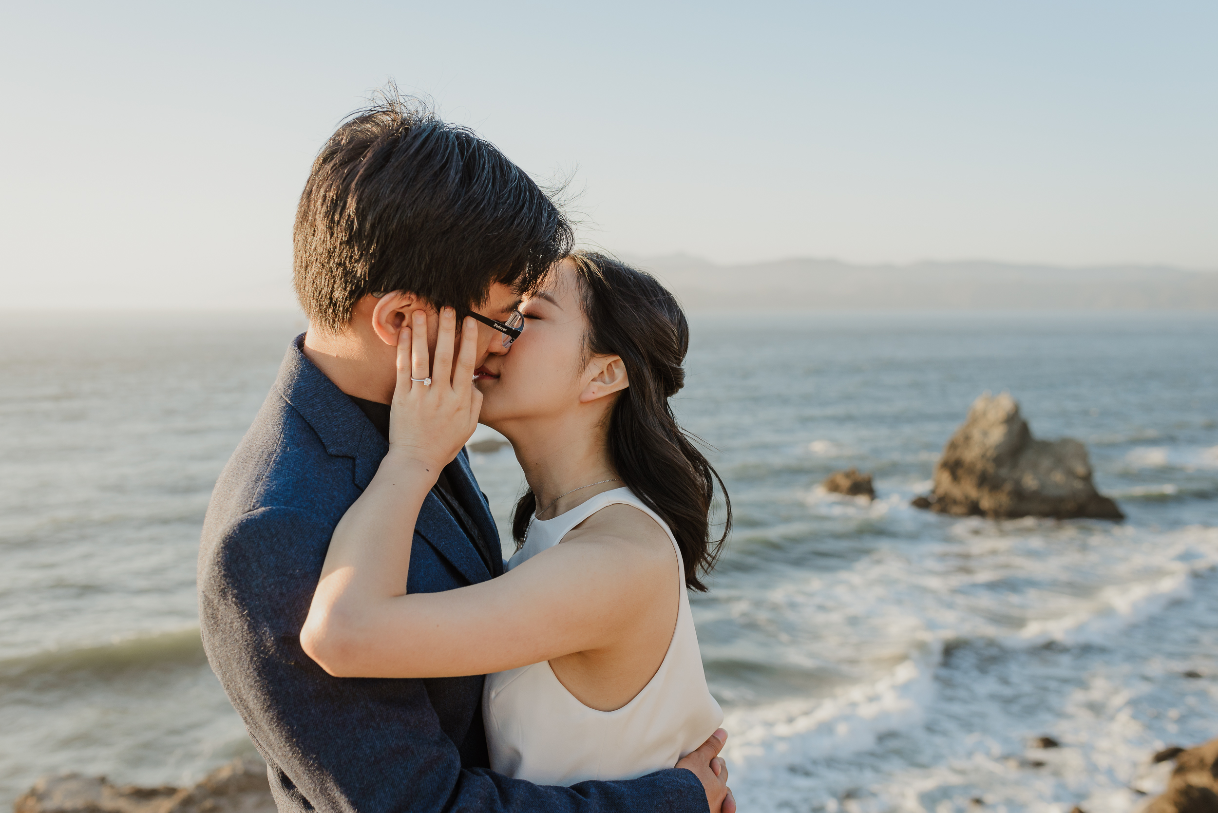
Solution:
{"label": "woman's hand with a ring, resting on the man's cheek", "polygon": [[[453,354],[457,352],[457,358]],[[457,348],[457,313],[440,310],[436,358],[428,353],[428,314],[415,310],[397,337],[397,385],[390,416],[390,454],[423,462],[429,472],[457,456],[477,427],[482,393],[474,387],[477,323],[466,318]]]}

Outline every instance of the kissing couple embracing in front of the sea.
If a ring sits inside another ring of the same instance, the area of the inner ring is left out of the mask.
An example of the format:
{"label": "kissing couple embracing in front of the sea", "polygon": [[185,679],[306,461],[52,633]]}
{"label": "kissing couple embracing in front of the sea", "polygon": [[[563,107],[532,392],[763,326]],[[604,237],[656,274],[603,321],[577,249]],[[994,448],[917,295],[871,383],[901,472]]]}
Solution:
{"label": "kissing couple embracing in front of the sea", "polygon": [[[294,237],[308,332],[199,557],[279,809],[733,813],[687,595],[726,531],[669,404],[672,295],[572,251],[519,167],[396,94],[322,148]],[[529,484],[507,562],[477,422]]]}

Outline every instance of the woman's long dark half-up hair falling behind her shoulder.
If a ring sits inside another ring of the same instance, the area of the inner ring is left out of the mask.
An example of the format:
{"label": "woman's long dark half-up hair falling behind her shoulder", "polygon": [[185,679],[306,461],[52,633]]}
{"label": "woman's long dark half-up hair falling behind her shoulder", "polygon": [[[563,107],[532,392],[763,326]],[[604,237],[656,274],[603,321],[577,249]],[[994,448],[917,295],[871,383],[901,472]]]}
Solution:
{"label": "woman's long dark half-up hair falling behind her shoulder", "polygon": [[[719,472],[677,426],[669,398],[685,385],[689,325],[676,298],[654,276],[594,252],[570,256],[583,293],[590,355],[620,355],[630,386],[609,417],[614,469],[643,503],[667,522],[685,560],[686,585],[706,590],[709,573],[732,527],[732,503]],[[715,482],[723,493],[723,534],[710,538]],[[512,536],[524,544],[537,510],[532,490],[516,503]]]}

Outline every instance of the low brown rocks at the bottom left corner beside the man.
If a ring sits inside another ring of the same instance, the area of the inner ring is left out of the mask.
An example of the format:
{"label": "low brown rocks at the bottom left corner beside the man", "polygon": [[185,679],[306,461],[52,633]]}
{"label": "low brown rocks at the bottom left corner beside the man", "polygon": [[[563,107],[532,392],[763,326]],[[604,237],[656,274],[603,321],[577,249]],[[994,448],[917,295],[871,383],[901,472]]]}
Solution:
{"label": "low brown rocks at the bottom left corner beside the man", "polygon": [[189,787],[116,786],[105,776],[44,776],[13,813],[275,813],[267,766],[234,759]]}

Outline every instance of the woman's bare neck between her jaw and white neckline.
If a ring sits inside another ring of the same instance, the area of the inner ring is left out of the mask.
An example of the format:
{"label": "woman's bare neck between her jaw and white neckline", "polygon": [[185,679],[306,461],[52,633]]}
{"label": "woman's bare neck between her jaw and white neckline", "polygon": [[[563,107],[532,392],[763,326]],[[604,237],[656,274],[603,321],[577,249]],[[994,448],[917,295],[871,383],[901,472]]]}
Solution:
{"label": "woman's bare neck between her jaw and white neckline", "polygon": [[588,426],[586,420],[551,419],[503,432],[512,441],[529,488],[537,498],[538,520],[555,517],[602,492],[621,488],[609,459],[605,424],[597,421]]}

